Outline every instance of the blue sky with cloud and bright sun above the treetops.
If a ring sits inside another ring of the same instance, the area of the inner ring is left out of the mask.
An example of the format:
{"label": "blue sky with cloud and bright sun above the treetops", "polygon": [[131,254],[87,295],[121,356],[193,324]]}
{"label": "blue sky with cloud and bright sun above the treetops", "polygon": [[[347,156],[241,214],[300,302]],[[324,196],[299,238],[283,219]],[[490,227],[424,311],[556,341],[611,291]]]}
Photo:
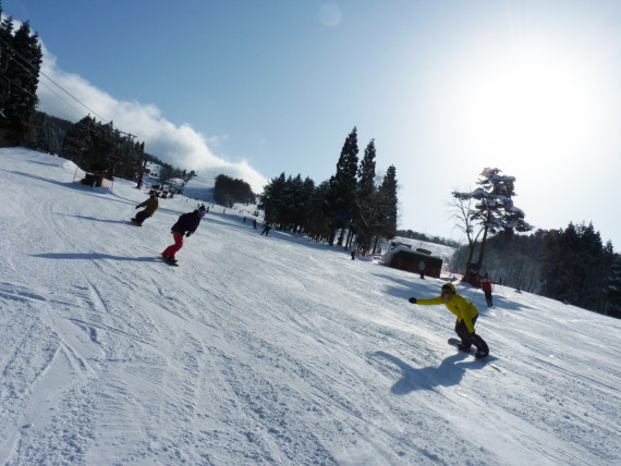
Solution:
{"label": "blue sky with cloud and bright sun above the treetops", "polygon": [[[498,167],[529,223],[592,220],[621,245],[619,1],[3,8],[39,33],[54,83],[202,176],[258,191],[281,172],[320,183],[357,126],[361,157],[374,138],[378,170],[397,167],[400,228],[464,241],[450,193]],[[41,110],[89,113],[57,94],[39,87]]]}

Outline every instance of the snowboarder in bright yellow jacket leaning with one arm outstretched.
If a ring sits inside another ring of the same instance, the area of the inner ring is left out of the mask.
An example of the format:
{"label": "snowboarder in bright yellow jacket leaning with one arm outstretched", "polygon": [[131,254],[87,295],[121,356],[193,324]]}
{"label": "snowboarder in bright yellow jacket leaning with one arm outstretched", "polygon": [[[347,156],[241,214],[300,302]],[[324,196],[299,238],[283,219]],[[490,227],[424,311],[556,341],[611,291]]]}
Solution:
{"label": "snowboarder in bright yellow jacket leaning with one arm outstretched", "polygon": [[485,341],[476,334],[474,330],[474,322],[476,322],[476,319],[478,318],[478,309],[465,297],[459,295],[452,283],[445,283],[442,285],[442,294],[438,297],[430,299],[417,299],[415,297],[411,297],[409,301],[412,304],[421,304],[423,306],[443,304],[451,312],[458,316],[455,333],[461,339],[459,348],[462,351],[470,351],[471,346],[474,344],[476,346],[475,356],[477,358],[485,357],[489,354],[487,343],[485,343]]}

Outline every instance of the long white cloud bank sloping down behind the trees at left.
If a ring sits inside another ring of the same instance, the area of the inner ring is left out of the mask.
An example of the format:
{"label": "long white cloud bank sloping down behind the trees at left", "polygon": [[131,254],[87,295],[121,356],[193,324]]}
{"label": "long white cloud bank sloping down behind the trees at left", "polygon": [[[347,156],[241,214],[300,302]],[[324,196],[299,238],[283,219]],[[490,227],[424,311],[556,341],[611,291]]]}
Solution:
{"label": "long white cloud bank sloping down behind the trees at left", "polygon": [[207,143],[218,147],[219,138],[207,138],[187,123],[178,126],[167,121],[153,103],[114,99],[83,77],[59,70],[56,57],[41,46],[44,62],[37,91],[41,111],[72,122],[87,114],[113,121],[115,128],[136,135],[137,140],[145,142],[148,154],[165,162],[196,170],[199,176],[202,172],[218,172],[242,179],[255,193],[263,191],[266,177],[247,161],[229,162],[211,152]]}

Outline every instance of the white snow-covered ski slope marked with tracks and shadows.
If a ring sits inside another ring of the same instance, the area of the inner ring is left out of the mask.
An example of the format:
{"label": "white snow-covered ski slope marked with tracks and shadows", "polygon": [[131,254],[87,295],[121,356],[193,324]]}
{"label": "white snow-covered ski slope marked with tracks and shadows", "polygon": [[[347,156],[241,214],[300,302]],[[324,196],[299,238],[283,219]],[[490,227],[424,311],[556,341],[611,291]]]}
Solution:
{"label": "white snow-covered ski slope marked with tracks and shadows", "polygon": [[480,310],[491,356],[410,296],[441,281],[212,209],[72,183],[0,149],[0,463],[621,464],[621,321],[511,289]]}

